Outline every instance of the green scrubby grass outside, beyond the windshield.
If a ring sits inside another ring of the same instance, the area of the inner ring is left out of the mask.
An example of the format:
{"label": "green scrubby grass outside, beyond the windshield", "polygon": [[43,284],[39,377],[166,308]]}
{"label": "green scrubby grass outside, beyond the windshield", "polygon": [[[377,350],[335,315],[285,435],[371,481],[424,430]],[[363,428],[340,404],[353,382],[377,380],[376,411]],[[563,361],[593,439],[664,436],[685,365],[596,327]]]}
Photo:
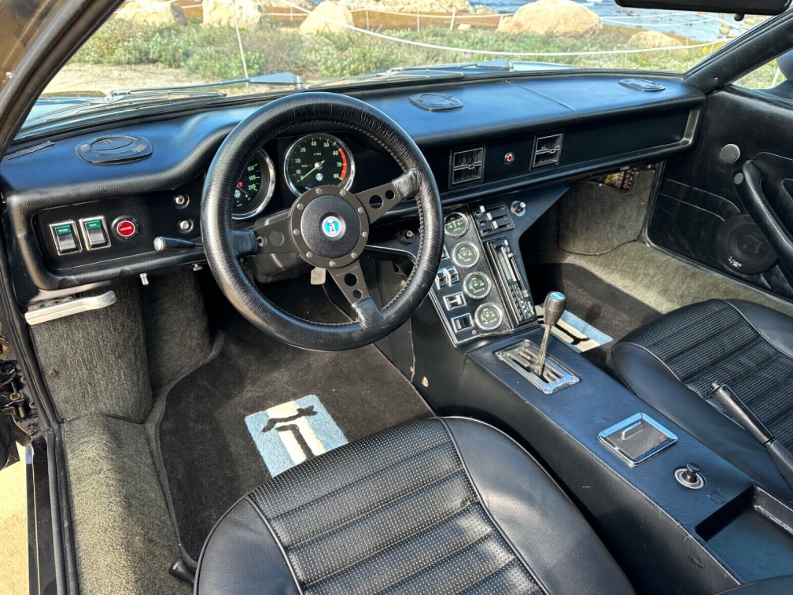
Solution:
{"label": "green scrubby grass outside, beyond the windshield", "polygon": [[[555,37],[511,35],[495,29],[450,31],[446,27],[384,29],[380,33],[429,44],[498,52],[593,52],[630,48],[635,29],[604,26],[592,36]],[[262,21],[242,33],[250,75],[291,71],[308,82],[377,71],[393,66],[451,63],[493,56],[422,48],[383,40],[363,33],[322,33],[303,36],[288,24]],[[717,44],[718,48],[718,44]],[[581,67],[685,71],[713,51],[638,52],[596,56],[505,57]],[[236,34],[232,28],[186,26],[144,27],[120,19],[106,23],[75,55],[75,62],[91,64],[153,64],[178,68],[208,81],[233,79],[243,73]],[[745,79],[747,86],[768,86],[774,67],[767,66]]]}

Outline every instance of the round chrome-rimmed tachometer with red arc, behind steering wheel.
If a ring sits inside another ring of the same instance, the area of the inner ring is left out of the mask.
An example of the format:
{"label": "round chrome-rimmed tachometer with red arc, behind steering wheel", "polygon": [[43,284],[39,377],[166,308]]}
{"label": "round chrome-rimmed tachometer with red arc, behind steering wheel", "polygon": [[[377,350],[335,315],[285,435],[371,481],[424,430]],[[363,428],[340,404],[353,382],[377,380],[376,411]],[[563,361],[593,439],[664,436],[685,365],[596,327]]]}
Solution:
{"label": "round chrome-rimmed tachometer with red arc, behind steering wheel", "polygon": [[284,177],[297,196],[316,186],[348,190],[354,175],[350,149],[330,134],[303,136],[287,149],[284,157]]}

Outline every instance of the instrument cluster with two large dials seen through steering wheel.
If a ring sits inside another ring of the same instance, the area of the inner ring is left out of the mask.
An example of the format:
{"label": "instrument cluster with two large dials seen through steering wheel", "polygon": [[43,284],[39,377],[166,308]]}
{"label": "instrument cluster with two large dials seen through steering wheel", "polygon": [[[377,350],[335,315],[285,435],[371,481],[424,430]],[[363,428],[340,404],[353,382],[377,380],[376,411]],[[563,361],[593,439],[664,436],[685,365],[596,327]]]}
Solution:
{"label": "instrument cluster with two large dials seen through steering wheel", "polygon": [[[358,151],[372,152],[360,147]],[[270,155],[277,159],[274,161]],[[232,217],[237,221],[258,217],[274,199],[280,199],[275,208],[288,208],[295,198],[316,186],[350,190],[355,182],[355,161],[347,142],[328,132],[274,140],[259,148],[243,168],[234,191]],[[381,168],[373,171],[378,169]],[[382,181],[378,177],[361,187],[376,186]]]}

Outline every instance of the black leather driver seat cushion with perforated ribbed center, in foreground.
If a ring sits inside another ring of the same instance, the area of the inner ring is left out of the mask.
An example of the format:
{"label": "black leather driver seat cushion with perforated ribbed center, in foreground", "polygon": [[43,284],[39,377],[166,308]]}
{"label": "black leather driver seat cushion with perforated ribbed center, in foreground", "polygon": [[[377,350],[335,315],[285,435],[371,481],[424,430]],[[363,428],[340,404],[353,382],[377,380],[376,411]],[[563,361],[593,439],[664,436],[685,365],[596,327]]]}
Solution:
{"label": "black leather driver seat cushion with perforated ribbed center, in foreground", "polygon": [[209,533],[195,593],[634,590],[522,447],[435,417],[309,459],[237,501]]}

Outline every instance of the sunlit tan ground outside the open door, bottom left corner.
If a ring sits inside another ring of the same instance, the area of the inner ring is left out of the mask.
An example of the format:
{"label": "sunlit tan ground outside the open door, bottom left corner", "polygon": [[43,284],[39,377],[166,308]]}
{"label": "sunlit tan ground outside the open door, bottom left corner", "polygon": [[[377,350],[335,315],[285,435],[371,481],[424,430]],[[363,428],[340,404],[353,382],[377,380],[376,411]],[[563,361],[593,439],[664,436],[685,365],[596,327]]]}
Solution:
{"label": "sunlit tan ground outside the open door, bottom left corner", "polygon": [[21,463],[0,472],[0,593],[28,595],[28,529],[25,451]]}

